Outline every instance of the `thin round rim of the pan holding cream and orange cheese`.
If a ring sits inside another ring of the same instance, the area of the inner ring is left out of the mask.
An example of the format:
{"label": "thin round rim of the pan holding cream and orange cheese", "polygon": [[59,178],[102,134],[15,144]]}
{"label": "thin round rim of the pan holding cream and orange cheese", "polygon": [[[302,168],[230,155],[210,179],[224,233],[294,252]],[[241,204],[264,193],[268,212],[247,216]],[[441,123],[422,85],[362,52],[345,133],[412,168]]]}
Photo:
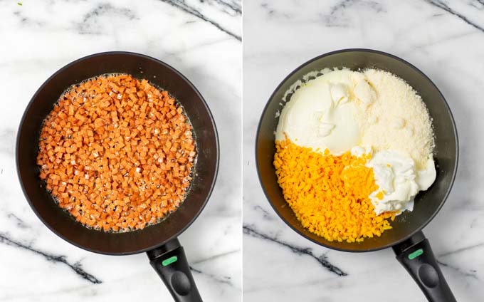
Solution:
{"label": "thin round rim of the pan holding cream and orange cheese", "polygon": [[[269,198],[269,195],[268,195],[268,192],[267,192],[267,190],[265,189],[265,187],[263,185],[263,182],[262,182],[262,179],[261,179],[261,171],[259,170],[259,164],[258,164],[259,163],[259,157],[258,157],[257,150],[258,150],[258,145],[259,145],[259,135],[261,133],[261,127],[262,127],[261,124],[262,124],[263,116],[265,115],[265,111],[268,109],[269,103],[270,103],[271,100],[273,100],[275,94],[278,93],[278,91],[283,86],[283,84],[285,84],[285,82],[290,77],[292,77],[295,73],[297,73],[298,71],[300,71],[301,68],[309,65],[310,63],[312,63],[314,61],[319,60],[320,58],[325,58],[327,56],[332,56],[332,55],[335,55],[335,54],[338,54],[338,53],[347,53],[347,52],[376,53],[376,54],[378,54],[380,56],[386,56],[386,57],[389,57],[389,58],[393,58],[396,61],[400,61],[401,63],[404,63],[406,66],[409,66],[414,71],[416,71],[417,73],[419,73],[420,75],[422,75],[423,78],[425,78],[428,81],[428,83],[430,83],[431,85],[433,85],[434,88],[436,88],[438,94],[441,96],[441,98],[443,100],[443,103],[446,106],[446,109],[447,109],[447,111],[448,111],[448,113],[449,113],[449,115],[451,117],[452,128],[453,128],[453,132],[455,133],[454,138],[455,138],[455,142],[456,142],[456,162],[455,162],[455,165],[453,167],[453,173],[452,173],[452,177],[451,177],[451,183],[448,186],[448,189],[446,190],[446,193],[443,196],[443,200],[438,205],[438,208],[436,209],[436,211],[434,211],[433,214],[430,217],[428,217],[428,219],[426,219],[426,221],[423,222],[423,224],[421,224],[415,231],[411,232],[411,234],[409,234],[409,235],[405,236],[404,238],[401,238],[401,239],[399,239],[397,241],[394,241],[391,244],[384,244],[382,246],[377,246],[377,247],[372,248],[372,249],[344,249],[344,248],[340,248],[340,247],[329,246],[329,245],[327,245],[327,244],[325,244],[323,242],[317,241],[315,239],[310,238],[309,236],[306,236],[301,231],[299,231],[298,229],[296,229],[293,226],[293,224],[290,224],[286,219],[284,219],[284,217],[278,212],[278,209],[275,207],[275,205],[273,204],[273,202],[271,202],[271,200]],[[452,190],[452,187],[453,187],[453,183],[454,183],[454,181],[456,179],[456,175],[457,175],[458,160],[459,160],[459,144],[458,144],[458,132],[457,132],[457,127],[456,127],[456,121],[453,118],[453,114],[452,114],[451,108],[448,106],[447,100],[443,96],[443,94],[441,93],[441,90],[438,89],[438,87],[435,85],[435,83],[433,83],[433,81],[430,78],[428,78],[428,76],[425,73],[423,73],[419,68],[416,68],[416,66],[414,66],[413,64],[409,63],[408,61],[405,61],[402,58],[399,58],[398,56],[394,56],[391,53],[386,53],[384,51],[377,51],[375,49],[370,49],[370,48],[344,48],[344,49],[340,49],[340,50],[337,50],[337,51],[330,51],[328,53],[323,53],[320,56],[316,56],[316,57],[311,58],[310,60],[305,61],[304,63],[302,63],[300,66],[298,66],[293,71],[291,71],[279,83],[279,85],[275,88],[275,90],[273,91],[273,93],[271,93],[270,97],[268,98],[268,101],[265,103],[265,106],[264,106],[263,111],[261,113],[261,118],[259,118],[259,122],[258,122],[258,126],[257,126],[257,130],[256,131],[257,131],[256,132],[256,144],[255,144],[255,150],[254,151],[256,152],[256,170],[257,170],[257,176],[258,176],[259,183],[261,184],[261,187],[262,187],[263,192],[265,194],[265,199],[267,199],[268,203],[270,204],[270,207],[273,208],[274,212],[276,214],[278,214],[278,217],[280,217],[280,219],[282,219],[283,222],[290,227],[290,229],[293,229],[293,231],[295,231],[296,233],[298,233],[300,236],[304,237],[305,239],[308,239],[308,240],[312,241],[315,244],[318,244],[320,246],[324,246],[327,249],[333,249],[333,250],[336,250],[336,251],[346,251],[346,252],[350,252],[350,253],[363,253],[363,252],[367,252],[367,251],[379,251],[381,249],[387,249],[387,248],[389,248],[391,246],[396,246],[397,244],[400,244],[401,242],[404,242],[407,239],[411,238],[411,236],[414,236],[416,233],[418,233],[424,227],[426,227],[427,224],[429,224],[432,221],[432,219],[434,217],[436,217],[436,215],[438,214],[438,212],[440,212],[441,208],[443,207],[443,204],[446,203],[446,200],[447,200],[448,195],[451,193],[451,190]]]}

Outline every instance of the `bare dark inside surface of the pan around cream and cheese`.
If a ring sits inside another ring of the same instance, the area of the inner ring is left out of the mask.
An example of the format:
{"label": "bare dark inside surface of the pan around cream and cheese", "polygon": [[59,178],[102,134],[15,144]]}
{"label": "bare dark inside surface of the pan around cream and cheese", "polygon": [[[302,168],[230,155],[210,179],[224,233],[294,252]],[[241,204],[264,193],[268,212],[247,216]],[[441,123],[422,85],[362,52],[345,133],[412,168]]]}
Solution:
{"label": "bare dark inside surface of the pan around cream and cheese", "polygon": [[[366,238],[361,243],[327,241],[321,236],[307,231],[296,219],[293,210],[285,202],[282,190],[277,183],[273,156],[275,153],[274,131],[278,125],[275,118],[280,110],[281,102],[286,90],[310,71],[320,71],[324,68],[349,68],[354,71],[365,68],[377,68],[389,71],[406,80],[419,95],[428,108],[433,119],[433,131],[436,147],[434,160],[436,162],[437,177],[433,185],[424,192],[417,194],[412,212],[404,212],[391,223],[393,229],[384,231],[382,236]],[[344,251],[371,251],[403,241],[416,231],[423,228],[441,208],[450,192],[456,174],[458,160],[458,143],[456,127],[446,100],[426,75],[414,66],[399,58],[386,53],[370,50],[347,50],[329,53],[305,63],[288,75],[271,95],[263,111],[258,127],[256,139],[256,157],[258,175],[263,190],[275,209],[275,212],[295,231],[317,244]]]}

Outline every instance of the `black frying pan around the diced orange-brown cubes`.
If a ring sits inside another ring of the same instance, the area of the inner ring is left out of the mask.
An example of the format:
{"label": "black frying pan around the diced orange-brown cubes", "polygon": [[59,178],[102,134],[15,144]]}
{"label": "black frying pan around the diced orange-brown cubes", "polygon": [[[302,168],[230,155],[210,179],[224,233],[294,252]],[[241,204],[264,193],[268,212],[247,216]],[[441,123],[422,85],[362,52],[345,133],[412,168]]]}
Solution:
{"label": "black frying pan around the diced orange-brown cubes", "polygon": [[[193,125],[198,150],[194,179],[179,209],[159,224],[125,233],[88,229],[58,207],[38,178],[38,136],[46,115],[70,85],[104,73],[129,73],[168,90],[183,105]],[[194,222],[214,188],[219,167],[219,139],[204,98],[189,80],[167,64],[137,53],[107,52],[80,58],[61,68],[39,88],[23,114],[16,145],[19,179],[38,218],[65,241],[100,254],[147,252],[150,264],[175,301],[201,301],[177,236]]]}

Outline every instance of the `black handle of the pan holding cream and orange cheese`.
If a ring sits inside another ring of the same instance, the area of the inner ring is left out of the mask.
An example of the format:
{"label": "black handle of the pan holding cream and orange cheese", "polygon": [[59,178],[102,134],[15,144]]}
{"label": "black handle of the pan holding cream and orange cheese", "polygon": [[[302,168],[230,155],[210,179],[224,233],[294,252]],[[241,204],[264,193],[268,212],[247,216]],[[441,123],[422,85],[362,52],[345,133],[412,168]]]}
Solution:
{"label": "black handle of the pan holding cream and orange cheese", "polygon": [[396,259],[409,272],[431,302],[456,302],[436,257],[421,231],[393,246]]}

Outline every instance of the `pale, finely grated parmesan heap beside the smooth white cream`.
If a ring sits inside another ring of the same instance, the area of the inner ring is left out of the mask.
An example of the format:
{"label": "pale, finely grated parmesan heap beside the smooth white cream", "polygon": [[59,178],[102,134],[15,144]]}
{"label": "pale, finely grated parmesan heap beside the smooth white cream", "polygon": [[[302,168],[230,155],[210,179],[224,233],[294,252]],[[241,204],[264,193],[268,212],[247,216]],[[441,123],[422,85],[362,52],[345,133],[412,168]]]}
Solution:
{"label": "pale, finely grated parmesan heap beside the smooth white cream", "polygon": [[391,149],[411,157],[417,169],[425,168],[434,140],[431,118],[421,97],[387,71],[368,69],[364,75],[379,101],[369,106],[359,103],[365,115],[362,145],[371,146],[375,152]]}

